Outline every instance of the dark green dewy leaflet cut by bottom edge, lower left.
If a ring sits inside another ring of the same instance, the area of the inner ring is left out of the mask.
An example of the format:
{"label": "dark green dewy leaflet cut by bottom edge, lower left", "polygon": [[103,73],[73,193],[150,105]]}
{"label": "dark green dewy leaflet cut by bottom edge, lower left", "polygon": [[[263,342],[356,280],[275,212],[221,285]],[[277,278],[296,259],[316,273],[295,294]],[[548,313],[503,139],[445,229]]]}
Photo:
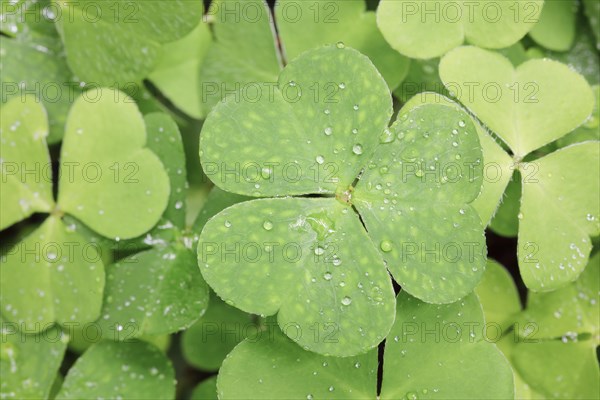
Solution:
{"label": "dark green dewy leaflet cut by bottom edge, lower left", "polygon": [[102,341],[73,365],[56,399],[172,399],[175,373],[169,359],[149,343]]}

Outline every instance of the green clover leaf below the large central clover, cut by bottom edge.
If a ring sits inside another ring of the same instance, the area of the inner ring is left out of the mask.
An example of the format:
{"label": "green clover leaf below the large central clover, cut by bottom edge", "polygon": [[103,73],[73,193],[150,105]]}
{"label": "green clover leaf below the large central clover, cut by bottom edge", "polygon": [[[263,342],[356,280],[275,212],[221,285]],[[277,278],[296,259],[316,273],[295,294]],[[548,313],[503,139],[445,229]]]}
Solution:
{"label": "green clover leaf below the large central clover, cut by bottom edge", "polygon": [[[401,293],[396,313],[382,365],[375,350],[346,358],[304,351],[276,328],[257,341],[246,339],[223,363],[219,398],[513,397],[508,362],[481,335],[484,319],[476,296],[431,305]],[[283,375],[275,377],[273,369]]]}

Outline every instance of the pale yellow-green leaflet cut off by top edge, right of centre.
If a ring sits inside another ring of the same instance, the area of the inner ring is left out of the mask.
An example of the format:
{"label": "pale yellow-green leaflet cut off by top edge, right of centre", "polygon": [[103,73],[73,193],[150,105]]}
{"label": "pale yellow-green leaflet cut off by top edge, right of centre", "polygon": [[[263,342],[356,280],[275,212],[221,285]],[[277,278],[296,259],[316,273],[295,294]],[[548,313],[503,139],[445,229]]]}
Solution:
{"label": "pale yellow-green leaflet cut off by top edge, right of centre", "polygon": [[377,8],[377,25],[401,54],[434,58],[465,41],[490,49],[511,46],[538,22],[543,4],[543,0],[382,0]]}

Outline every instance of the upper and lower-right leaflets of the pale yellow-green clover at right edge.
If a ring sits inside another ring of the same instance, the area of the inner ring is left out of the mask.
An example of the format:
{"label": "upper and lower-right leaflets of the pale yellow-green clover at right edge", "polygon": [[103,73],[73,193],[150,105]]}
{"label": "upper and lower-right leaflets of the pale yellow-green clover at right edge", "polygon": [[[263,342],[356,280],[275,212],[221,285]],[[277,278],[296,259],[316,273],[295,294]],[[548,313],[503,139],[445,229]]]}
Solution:
{"label": "upper and lower-right leaflets of the pale yellow-green clover at right edge", "polygon": [[[444,56],[440,76],[506,143],[521,173],[518,252],[525,284],[548,291],[574,281],[587,263],[589,236],[600,232],[600,176],[585,161],[598,160],[598,143],[576,144],[535,161],[523,158],[589,117],[594,96],[585,79],[551,60],[530,60],[515,69],[501,55],[475,47]],[[473,81],[480,85],[470,85]],[[488,94],[486,87],[498,90]],[[580,192],[581,187],[588,190]]]}

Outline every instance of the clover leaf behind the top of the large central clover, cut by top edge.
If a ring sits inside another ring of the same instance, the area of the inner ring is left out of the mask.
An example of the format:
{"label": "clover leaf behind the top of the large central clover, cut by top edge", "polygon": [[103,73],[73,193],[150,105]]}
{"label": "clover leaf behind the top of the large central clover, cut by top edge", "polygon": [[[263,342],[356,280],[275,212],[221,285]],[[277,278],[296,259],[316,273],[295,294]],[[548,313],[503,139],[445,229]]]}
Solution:
{"label": "clover leaf behind the top of the large central clover, cut by top edge", "polygon": [[[207,110],[226,95],[257,100],[270,93],[284,58],[292,60],[326,44],[343,42],[372,57],[391,88],[398,86],[408,68],[408,60],[381,37],[373,13],[365,11],[364,0],[280,0],[275,16],[262,0],[216,0],[208,17],[214,25],[214,44],[201,69]],[[276,29],[283,54],[276,45]],[[333,97],[339,90],[333,83],[304,88],[305,94],[313,91],[313,95],[325,97]]]}

